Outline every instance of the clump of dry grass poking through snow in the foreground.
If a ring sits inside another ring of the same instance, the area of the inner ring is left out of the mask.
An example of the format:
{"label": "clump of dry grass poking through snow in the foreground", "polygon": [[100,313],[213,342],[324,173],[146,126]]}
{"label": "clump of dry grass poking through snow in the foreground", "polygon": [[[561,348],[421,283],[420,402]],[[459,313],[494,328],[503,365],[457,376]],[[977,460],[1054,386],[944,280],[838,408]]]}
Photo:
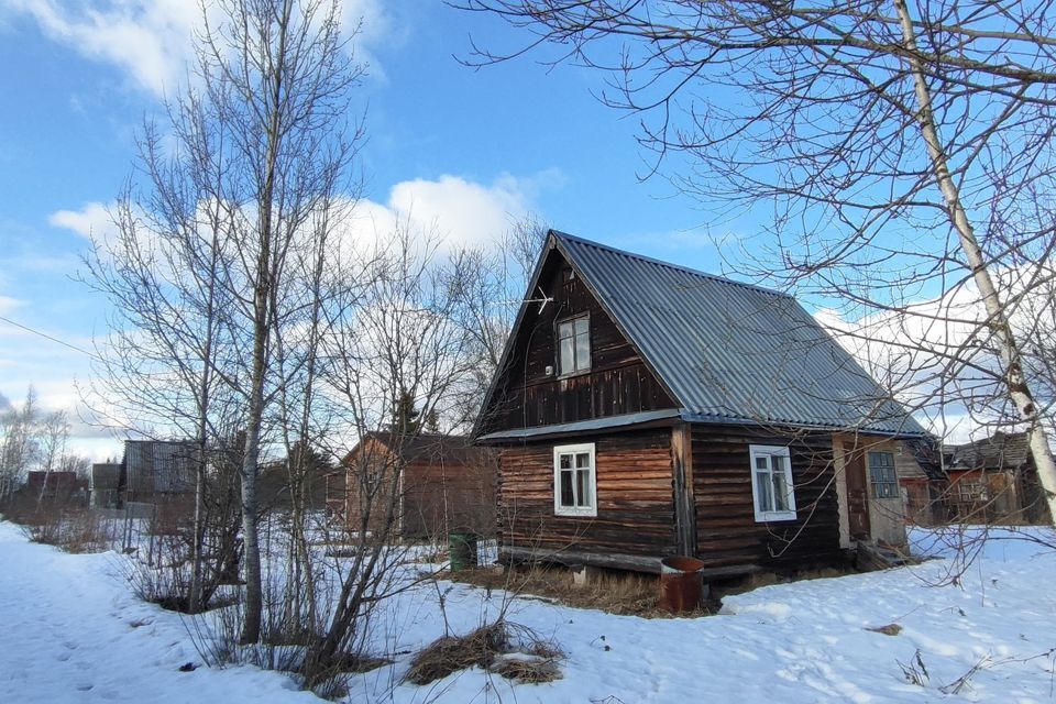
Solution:
{"label": "clump of dry grass poking through snow in the foreground", "polygon": [[479,667],[525,684],[561,678],[564,653],[529,628],[498,620],[464,636],[444,636],[422,648],[410,661],[405,681],[429,684]]}

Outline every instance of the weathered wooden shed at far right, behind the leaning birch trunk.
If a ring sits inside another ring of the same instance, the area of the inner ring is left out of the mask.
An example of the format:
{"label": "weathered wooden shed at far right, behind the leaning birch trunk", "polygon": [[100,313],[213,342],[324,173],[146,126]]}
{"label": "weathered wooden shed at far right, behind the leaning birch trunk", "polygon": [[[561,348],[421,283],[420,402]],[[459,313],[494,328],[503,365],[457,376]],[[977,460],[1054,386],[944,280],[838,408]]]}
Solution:
{"label": "weathered wooden shed at far right, behind the leaning birch trunk", "polygon": [[947,446],[950,518],[970,522],[1048,522],[1048,509],[1025,432],[996,432],[966,444]]}

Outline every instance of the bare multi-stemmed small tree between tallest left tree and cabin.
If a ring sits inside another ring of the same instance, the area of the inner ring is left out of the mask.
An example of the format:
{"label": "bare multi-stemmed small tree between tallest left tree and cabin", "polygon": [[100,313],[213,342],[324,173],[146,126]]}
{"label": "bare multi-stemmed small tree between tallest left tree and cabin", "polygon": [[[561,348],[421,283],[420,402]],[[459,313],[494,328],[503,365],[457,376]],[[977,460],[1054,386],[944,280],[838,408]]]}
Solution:
{"label": "bare multi-stemmed small tree between tallest left tree and cabin", "polygon": [[362,647],[374,605],[413,584],[397,569],[406,548],[396,544],[405,448],[421,429],[407,422],[407,407],[417,418],[448,415],[450,393],[465,373],[466,337],[453,315],[450,264],[436,256],[435,238],[410,231],[408,222],[400,220],[396,232],[382,233],[376,248],[361,253],[359,284],[336,288],[339,305],[328,308],[331,332],[322,340],[327,363],[320,371],[340,400],[339,437],[351,442],[382,433],[392,452],[364,451],[345,465],[355,484],[355,524],[328,622],[302,663],[311,688]]}

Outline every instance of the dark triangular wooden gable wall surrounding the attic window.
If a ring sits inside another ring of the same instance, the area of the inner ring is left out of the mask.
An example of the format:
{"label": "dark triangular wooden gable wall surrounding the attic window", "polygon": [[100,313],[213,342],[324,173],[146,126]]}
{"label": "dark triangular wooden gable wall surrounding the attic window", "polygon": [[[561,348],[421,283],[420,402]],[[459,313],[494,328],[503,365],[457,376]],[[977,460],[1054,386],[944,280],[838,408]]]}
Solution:
{"label": "dark triangular wooden gable wall surrounding the attic window", "polygon": [[[673,408],[663,385],[583,280],[569,276],[557,250],[549,257],[540,287],[552,300],[541,312],[539,304],[531,304],[515,331],[510,359],[484,409],[482,432]],[[590,318],[591,369],[561,376],[557,326],[584,315]]]}

